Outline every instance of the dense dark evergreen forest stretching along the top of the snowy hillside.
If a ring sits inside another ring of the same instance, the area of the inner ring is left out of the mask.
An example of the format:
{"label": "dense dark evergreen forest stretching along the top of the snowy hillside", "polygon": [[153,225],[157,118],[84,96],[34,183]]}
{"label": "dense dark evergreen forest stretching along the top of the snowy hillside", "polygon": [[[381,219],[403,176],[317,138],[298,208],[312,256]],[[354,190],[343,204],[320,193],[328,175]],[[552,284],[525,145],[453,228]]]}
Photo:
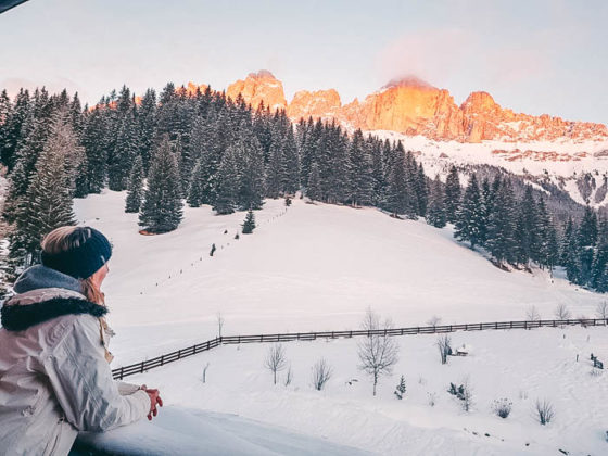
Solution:
{"label": "dense dark evergreen forest stretching along the top of the snowy hillside", "polygon": [[445,182],[427,177],[401,142],[334,122],[295,125],[284,111],[253,110],[211,88],[189,92],[167,84],[137,98],[112,91],[92,107],[64,90],[0,93],[0,160],[9,177],[3,218],[10,224],[12,270],[38,261],[39,242],[74,224],[72,199],[104,188],[127,190],[125,211],[142,229],[176,229],[185,203],[218,214],[258,210],[265,198],[302,191],[313,201],[376,206],[396,218],[454,224],[454,236],[481,248],[498,266],[553,270],[600,291],[608,289],[606,220],[558,226],[543,191],[516,195],[510,179],[478,181],[452,166]]}

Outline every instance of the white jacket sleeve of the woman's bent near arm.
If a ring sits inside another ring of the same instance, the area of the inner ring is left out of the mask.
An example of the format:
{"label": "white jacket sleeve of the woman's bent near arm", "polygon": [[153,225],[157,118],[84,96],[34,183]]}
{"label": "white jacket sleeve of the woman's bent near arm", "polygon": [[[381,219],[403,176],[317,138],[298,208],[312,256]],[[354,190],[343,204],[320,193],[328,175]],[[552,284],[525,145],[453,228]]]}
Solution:
{"label": "white jacket sleeve of the woman's bent near arm", "polygon": [[46,371],[65,418],[79,431],[102,432],[150,411],[144,391],[121,395],[92,316],[78,316],[46,360]]}

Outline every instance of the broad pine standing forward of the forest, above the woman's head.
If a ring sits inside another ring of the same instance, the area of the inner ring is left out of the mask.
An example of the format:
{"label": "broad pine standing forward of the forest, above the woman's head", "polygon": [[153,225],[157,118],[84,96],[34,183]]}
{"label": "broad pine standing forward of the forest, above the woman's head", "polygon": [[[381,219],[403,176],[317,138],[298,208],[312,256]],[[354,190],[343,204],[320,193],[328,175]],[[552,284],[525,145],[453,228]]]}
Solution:
{"label": "broad pine standing forward of the forest, above the woman's head", "polygon": [[181,221],[182,205],[177,161],[165,136],[150,163],[139,225],[154,233],[173,231]]}

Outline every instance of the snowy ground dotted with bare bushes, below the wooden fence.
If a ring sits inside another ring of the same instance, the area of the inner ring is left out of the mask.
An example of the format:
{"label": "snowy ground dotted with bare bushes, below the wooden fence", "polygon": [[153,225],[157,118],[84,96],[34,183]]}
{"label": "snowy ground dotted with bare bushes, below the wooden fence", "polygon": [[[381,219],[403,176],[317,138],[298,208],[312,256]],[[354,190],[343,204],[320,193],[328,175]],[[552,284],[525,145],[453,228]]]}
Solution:
{"label": "snowy ground dotted with bare bushes, below the wooden fence", "polygon": [[[293,372],[288,387],[287,369],[274,385],[264,367],[271,344],[221,346],[128,380],[159,388],[173,406],[237,414],[380,455],[608,454],[608,382],[606,373],[591,373],[590,362],[591,353],[608,359],[606,327],[457,332],[454,346],[472,349],[447,365],[440,364],[435,335],[395,340],[400,362],[380,379],[376,397],[357,367],[355,339],[284,343]],[[333,375],[316,391],[311,368],[321,357]],[[402,375],[407,391],[398,401],[393,391]],[[449,382],[465,379],[473,392],[468,413],[447,393]],[[506,419],[492,411],[501,398],[512,403]],[[547,426],[535,416],[537,398],[554,406]]]}

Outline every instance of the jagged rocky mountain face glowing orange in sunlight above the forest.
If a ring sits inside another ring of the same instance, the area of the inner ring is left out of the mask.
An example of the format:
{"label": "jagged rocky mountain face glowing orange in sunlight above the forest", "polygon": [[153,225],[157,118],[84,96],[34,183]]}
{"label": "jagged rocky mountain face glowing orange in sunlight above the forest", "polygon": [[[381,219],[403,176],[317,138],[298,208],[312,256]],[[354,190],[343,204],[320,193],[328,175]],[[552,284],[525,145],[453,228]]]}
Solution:
{"label": "jagged rocky mountain face glowing orange in sunlight above the forest", "polygon": [[487,92],[473,92],[458,106],[445,89],[415,78],[393,80],[363,101],[342,104],[333,89],[296,92],[288,104],[280,80],[271,73],[251,73],[228,87],[227,96],[239,93],[257,107],[287,110],[288,116],[337,119],[363,130],[391,130],[436,140],[480,142],[482,140],[588,140],[608,138],[604,124],[569,122],[543,114],[532,116],[503,109]]}

